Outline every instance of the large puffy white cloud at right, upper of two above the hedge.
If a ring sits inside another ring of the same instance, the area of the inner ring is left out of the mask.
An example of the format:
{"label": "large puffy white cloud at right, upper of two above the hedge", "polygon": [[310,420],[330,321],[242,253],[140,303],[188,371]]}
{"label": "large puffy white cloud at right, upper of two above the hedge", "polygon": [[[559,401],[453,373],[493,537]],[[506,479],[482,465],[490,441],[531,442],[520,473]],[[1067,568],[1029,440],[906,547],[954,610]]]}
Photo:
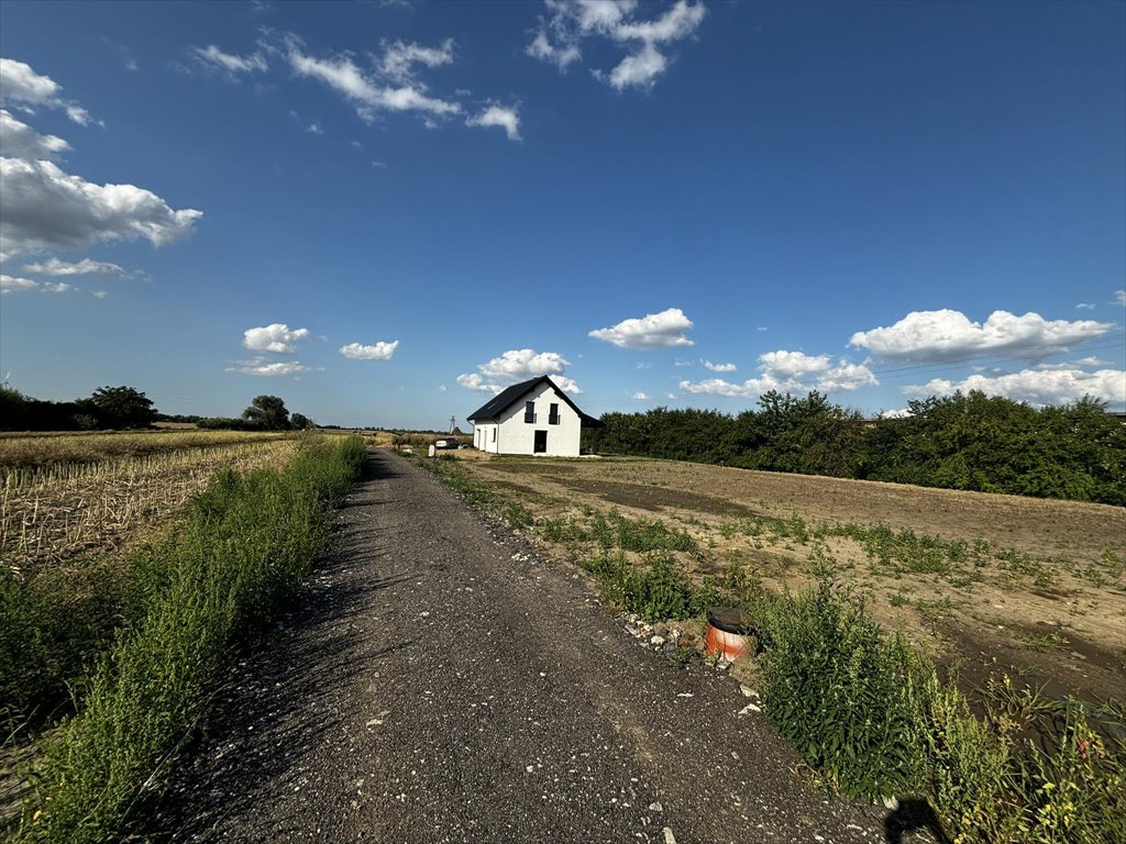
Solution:
{"label": "large puffy white cloud at right, upper of two above the hedge", "polygon": [[971,322],[958,311],[914,311],[890,327],[858,331],[851,345],[868,349],[886,360],[941,362],[983,356],[1045,357],[1099,336],[1112,325],[1093,320],[1047,321],[1039,314],[1024,316],[994,311],[984,324]]}

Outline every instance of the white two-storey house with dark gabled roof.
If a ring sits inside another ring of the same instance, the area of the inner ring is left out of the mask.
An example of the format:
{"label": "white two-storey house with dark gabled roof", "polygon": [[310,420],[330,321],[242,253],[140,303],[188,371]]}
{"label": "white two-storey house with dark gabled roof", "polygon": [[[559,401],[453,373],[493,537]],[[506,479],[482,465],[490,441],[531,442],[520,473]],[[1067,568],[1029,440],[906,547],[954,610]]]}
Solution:
{"label": "white two-storey house with dark gabled roof", "polygon": [[546,375],[493,396],[470,422],[473,445],[482,451],[546,457],[578,457],[582,429],[602,427]]}

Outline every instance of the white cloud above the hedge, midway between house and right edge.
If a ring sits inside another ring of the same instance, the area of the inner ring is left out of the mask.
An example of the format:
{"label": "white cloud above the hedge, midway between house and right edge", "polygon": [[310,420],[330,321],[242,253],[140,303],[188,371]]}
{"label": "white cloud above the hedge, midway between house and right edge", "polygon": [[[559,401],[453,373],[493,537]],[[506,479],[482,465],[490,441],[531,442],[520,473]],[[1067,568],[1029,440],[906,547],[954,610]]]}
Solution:
{"label": "white cloud above the hedge, midway between house and right edge", "polygon": [[828,354],[778,350],[760,354],[759,376],[742,384],[708,378],[680,381],[680,388],[696,395],[751,397],[771,389],[779,393],[807,393],[811,389],[840,393],[878,383],[864,363],[854,363],[846,358],[833,362]]}

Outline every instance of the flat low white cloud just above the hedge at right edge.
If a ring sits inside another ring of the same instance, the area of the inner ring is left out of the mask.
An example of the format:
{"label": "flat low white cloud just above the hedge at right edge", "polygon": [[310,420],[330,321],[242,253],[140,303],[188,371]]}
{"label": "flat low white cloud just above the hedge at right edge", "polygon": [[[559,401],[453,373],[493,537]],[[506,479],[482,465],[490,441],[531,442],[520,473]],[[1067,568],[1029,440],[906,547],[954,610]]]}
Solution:
{"label": "flat low white cloud just above the hedge at right edge", "polygon": [[950,395],[956,390],[981,390],[986,395],[1002,396],[1033,405],[1053,405],[1074,402],[1085,395],[1109,402],[1116,407],[1126,405],[1126,370],[1099,369],[1022,369],[1003,375],[971,375],[960,381],[933,378],[923,385],[903,388],[910,395]]}

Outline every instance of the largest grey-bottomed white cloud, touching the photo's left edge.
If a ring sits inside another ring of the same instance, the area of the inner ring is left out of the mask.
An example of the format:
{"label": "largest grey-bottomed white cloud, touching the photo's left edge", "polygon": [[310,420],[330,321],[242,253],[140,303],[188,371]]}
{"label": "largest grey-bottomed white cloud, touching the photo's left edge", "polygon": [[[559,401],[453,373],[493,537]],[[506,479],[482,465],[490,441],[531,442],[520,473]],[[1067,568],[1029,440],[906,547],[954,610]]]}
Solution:
{"label": "largest grey-bottomed white cloud, touching the photo's left edge", "polygon": [[50,161],[0,159],[0,259],[43,249],[84,249],[144,237],[162,246],[185,236],[202,212],[172,210],[133,185],[96,185]]}

